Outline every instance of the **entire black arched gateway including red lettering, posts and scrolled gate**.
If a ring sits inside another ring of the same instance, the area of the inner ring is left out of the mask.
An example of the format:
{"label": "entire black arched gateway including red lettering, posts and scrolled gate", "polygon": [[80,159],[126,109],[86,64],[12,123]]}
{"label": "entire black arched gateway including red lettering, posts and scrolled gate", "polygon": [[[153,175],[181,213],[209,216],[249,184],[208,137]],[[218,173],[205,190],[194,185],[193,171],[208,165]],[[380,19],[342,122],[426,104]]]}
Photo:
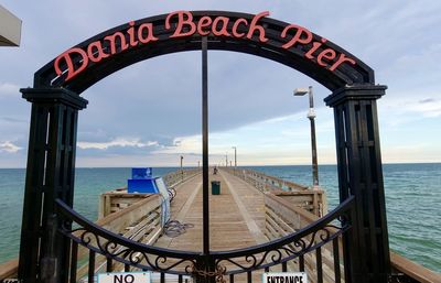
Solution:
{"label": "entire black arched gateway including red lettering, posts and scrolled gate", "polygon": [[[123,263],[125,269],[192,275],[213,282],[291,261],[304,270],[304,257],[315,253],[321,282],[322,247],[343,235],[345,282],[386,283],[389,247],[383,187],[376,100],[386,86],[375,84],[374,70],[336,44],[302,26],[224,11],[178,11],[110,29],[61,54],[35,73],[33,88],[21,89],[32,102],[19,277],[24,283],[75,282],[78,246]],[[224,24],[220,30],[208,23]],[[197,29],[196,29],[197,26]],[[202,26],[202,28],[201,28]],[[137,32],[136,32],[137,31]],[[203,252],[178,252],[142,246],[96,227],[72,210],[79,95],[104,77],[137,62],[182,51],[202,50],[203,94]],[[284,64],[327,87],[334,108],[341,205],[329,216],[294,235],[268,244],[232,252],[211,252],[208,237],[207,50],[254,54]],[[338,56],[337,56],[338,55]],[[326,62],[331,62],[327,64]],[[74,228],[72,228],[74,227]],[[90,269],[93,270],[93,269]],[[93,273],[89,273],[92,282]],[[335,281],[342,277],[335,270]]]}

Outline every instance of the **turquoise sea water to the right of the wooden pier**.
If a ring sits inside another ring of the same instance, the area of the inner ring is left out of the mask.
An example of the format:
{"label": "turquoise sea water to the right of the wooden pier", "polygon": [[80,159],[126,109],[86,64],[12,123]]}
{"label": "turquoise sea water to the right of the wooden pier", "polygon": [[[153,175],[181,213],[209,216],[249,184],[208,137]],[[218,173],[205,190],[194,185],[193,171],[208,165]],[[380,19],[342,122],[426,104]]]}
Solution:
{"label": "turquoise sea water to the right of the wooden pier", "polygon": [[[311,166],[250,167],[268,175],[311,185]],[[389,247],[441,272],[441,163],[384,164]],[[319,166],[320,185],[330,210],[338,205],[336,165]]]}

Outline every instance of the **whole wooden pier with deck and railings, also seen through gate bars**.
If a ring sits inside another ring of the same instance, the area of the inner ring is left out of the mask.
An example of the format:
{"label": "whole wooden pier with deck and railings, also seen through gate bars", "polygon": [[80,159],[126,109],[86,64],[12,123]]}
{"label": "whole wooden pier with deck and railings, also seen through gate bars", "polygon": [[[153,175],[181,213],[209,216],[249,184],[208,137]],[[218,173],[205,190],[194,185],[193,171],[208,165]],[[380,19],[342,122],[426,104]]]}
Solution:
{"label": "whole wooden pier with deck and railings, also seen through gate bars", "polygon": [[[181,225],[190,225],[169,237],[161,227],[161,197],[148,194],[127,194],[125,188],[115,189],[101,195],[100,218],[96,222],[100,227],[121,235],[133,241],[189,252],[202,252],[202,175],[200,171],[175,172],[164,176],[168,187],[175,191],[171,203],[171,219]],[[211,251],[227,251],[261,244],[295,232],[316,221],[327,213],[326,196],[323,191],[282,181],[272,176],[235,168],[222,168],[217,174],[209,174],[209,182],[219,182],[220,194],[209,195],[209,235]],[[334,253],[343,258],[342,239],[333,248],[322,247],[320,274],[318,280],[318,258],[310,252],[271,271],[299,271],[309,274],[309,282],[335,282],[342,276],[343,264],[335,265]],[[94,244],[94,240],[92,242]],[[116,251],[117,252],[117,251]],[[78,246],[77,282],[88,282],[90,263],[87,261],[88,249]],[[391,253],[392,266],[397,272],[408,274],[416,282],[440,282],[441,276],[402,257]],[[131,270],[117,261],[108,261],[97,254],[94,259],[94,274],[112,271]],[[246,263],[246,262],[244,262]],[[18,261],[0,265],[0,279],[14,276]],[[109,265],[110,264],[110,265]],[[302,266],[302,268],[301,268]],[[336,268],[338,266],[338,268]],[[232,268],[228,266],[227,268]],[[336,271],[338,275],[336,274]],[[260,272],[252,273],[252,282],[260,282]],[[1,277],[3,275],[3,277]],[[182,277],[166,275],[165,282],[182,282]],[[181,281],[180,281],[181,280]],[[186,279],[190,281],[190,277]],[[153,276],[153,282],[159,279]],[[228,281],[227,281],[228,282]],[[247,274],[238,274],[234,282],[249,282]]]}

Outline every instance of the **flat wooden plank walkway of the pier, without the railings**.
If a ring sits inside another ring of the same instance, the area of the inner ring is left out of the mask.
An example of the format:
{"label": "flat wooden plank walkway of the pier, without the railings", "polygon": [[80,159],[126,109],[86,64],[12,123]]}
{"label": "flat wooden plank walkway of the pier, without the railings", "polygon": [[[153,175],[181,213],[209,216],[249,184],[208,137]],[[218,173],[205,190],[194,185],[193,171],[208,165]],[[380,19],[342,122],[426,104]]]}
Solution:
{"label": "flat wooden plank walkway of the pier, without the railings", "polygon": [[[211,181],[220,182],[220,195],[209,196],[211,250],[246,248],[268,241],[265,229],[263,195],[251,185],[232,174],[219,171],[209,175]],[[176,187],[172,203],[172,219],[192,224],[186,232],[170,238],[163,236],[158,247],[201,251],[202,250],[202,176]]]}

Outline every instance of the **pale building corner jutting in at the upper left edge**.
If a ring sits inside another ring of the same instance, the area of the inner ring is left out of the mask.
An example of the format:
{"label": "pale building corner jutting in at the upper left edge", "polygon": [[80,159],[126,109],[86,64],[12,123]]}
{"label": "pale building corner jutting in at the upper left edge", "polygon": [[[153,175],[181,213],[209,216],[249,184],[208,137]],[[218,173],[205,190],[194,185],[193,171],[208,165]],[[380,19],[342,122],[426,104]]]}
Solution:
{"label": "pale building corner jutting in at the upper left edge", "polygon": [[21,20],[0,4],[0,46],[20,46]]}

